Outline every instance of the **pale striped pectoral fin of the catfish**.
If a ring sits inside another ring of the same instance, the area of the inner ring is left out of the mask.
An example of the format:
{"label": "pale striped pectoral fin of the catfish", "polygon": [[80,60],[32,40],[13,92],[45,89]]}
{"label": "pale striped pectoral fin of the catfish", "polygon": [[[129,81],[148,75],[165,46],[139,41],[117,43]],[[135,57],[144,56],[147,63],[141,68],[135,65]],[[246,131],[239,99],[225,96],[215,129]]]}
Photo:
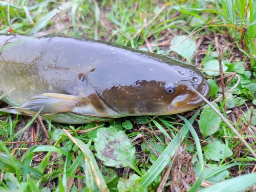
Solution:
{"label": "pale striped pectoral fin of the catfish", "polygon": [[26,114],[38,112],[42,106],[41,113],[63,113],[71,112],[79,103],[79,98],[73,95],[43,93],[29,99],[22,106],[16,108]]}

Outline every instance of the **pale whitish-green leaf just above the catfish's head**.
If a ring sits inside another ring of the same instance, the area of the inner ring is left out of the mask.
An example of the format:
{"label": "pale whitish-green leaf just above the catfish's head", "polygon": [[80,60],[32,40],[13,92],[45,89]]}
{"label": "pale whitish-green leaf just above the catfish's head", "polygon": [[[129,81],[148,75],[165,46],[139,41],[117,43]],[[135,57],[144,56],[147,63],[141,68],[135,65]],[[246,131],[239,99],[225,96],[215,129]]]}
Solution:
{"label": "pale whitish-green leaf just above the catfish's head", "polygon": [[170,41],[170,50],[175,51],[176,53],[190,61],[192,55],[195,53],[196,46],[194,44],[194,41],[191,40],[191,38],[187,38],[180,44],[180,42],[184,40],[186,37],[187,36],[185,35],[175,36]]}

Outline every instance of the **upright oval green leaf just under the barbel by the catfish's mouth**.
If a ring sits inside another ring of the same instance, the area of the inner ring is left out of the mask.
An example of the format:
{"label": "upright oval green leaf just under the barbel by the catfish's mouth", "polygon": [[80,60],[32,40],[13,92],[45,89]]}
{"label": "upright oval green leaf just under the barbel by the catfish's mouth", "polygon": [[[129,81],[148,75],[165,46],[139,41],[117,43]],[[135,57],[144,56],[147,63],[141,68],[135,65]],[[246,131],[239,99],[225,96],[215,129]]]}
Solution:
{"label": "upright oval green leaf just under the barbel by the catfish's mouth", "polygon": [[[216,103],[212,102],[212,104],[216,107],[216,109],[219,109],[219,106]],[[206,105],[202,110],[200,119],[198,121],[199,129],[203,136],[205,137],[214,134],[218,130],[220,123],[221,118],[219,115],[217,115],[209,105]]]}

